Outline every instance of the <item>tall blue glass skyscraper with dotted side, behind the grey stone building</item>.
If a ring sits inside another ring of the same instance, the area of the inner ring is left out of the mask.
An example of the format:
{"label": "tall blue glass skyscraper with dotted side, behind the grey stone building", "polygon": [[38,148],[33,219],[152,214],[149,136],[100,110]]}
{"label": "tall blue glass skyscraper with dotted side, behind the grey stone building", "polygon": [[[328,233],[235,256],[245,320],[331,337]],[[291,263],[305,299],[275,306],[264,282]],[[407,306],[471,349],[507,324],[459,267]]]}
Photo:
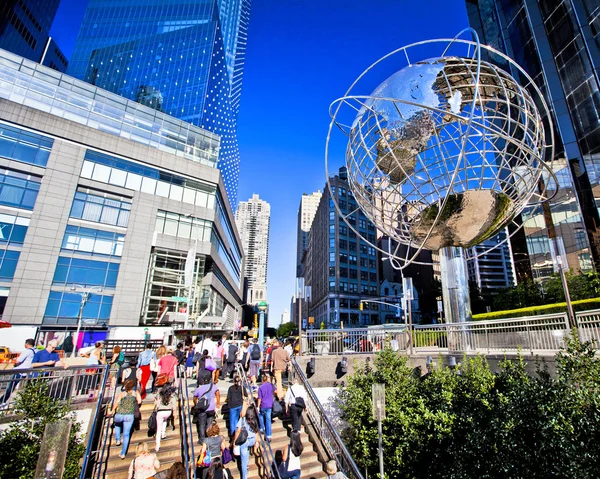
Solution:
{"label": "tall blue glass skyscraper with dotted side, behind the grey stone building", "polygon": [[249,18],[250,0],[90,0],[68,71],[217,133],[219,169],[235,205]]}

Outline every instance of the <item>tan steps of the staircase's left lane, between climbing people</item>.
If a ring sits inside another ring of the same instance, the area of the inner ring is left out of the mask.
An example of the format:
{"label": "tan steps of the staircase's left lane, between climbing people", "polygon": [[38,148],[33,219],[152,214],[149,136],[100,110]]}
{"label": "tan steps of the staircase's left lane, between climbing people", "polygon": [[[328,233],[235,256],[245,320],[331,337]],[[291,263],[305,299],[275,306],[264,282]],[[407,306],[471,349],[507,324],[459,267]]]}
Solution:
{"label": "tan steps of the staircase's left lane, between climbing people", "polygon": [[[154,409],[153,400],[145,400],[140,406],[142,413],[142,420],[140,422],[140,430],[132,431],[131,440],[129,441],[129,450],[125,459],[121,459],[119,454],[121,453],[121,446],[115,445],[114,429],[111,429],[110,435],[110,448],[108,449],[108,461],[104,468],[105,479],[127,479],[129,472],[129,465],[131,461],[135,459],[135,450],[139,442],[145,442],[148,444],[148,450],[156,454],[160,461],[160,470],[168,469],[174,462],[181,461],[181,444],[180,444],[180,430],[179,430],[179,415],[175,411],[175,430],[171,426],[167,427],[167,437],[160,443],[160,451],[154,450],[155,441],[154,437],[148,437],[148,418]],[[112,421],[112,419],[111,419]]]}

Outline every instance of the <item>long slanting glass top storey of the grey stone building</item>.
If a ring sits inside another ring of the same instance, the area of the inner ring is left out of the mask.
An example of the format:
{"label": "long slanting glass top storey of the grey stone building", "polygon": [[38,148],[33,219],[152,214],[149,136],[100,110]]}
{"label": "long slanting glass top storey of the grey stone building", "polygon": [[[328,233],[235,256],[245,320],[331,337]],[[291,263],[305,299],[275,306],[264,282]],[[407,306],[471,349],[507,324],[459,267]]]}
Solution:
{"label": "long slanting glass top storey of the grey stone building", "polygon": [[0,98],[190,161],[218,161],[217,135],[4,50]]}

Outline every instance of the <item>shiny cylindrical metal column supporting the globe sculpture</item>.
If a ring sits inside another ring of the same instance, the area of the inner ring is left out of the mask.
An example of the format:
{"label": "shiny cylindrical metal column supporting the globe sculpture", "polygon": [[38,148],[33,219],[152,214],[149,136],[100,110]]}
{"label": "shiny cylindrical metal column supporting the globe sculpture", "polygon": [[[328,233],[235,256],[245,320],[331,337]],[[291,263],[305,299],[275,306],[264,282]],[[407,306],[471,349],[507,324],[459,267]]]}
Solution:
{"label": "shiny cylindrical metal column supporting the globe sculpture", "polygon": [[[439,254],[446,323],[466,323],[471,320],[471,301],[465,250],[456,246],[446,246],[440,249]],[[448,332],[448,346],[451,349],[467,349],[467,332],[461,329],[454,331],[455,338],[451,338],[451,331]],[[454,341],[451,341],[452,339]]]}

